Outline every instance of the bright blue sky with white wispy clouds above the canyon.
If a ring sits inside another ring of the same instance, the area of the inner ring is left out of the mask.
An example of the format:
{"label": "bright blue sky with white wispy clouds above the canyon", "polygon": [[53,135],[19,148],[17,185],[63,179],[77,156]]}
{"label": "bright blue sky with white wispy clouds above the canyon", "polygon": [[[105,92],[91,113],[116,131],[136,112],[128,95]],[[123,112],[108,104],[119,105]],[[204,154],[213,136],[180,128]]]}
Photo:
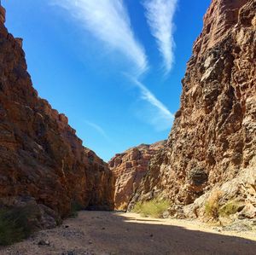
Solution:
{"label": "bright blue sky with white wispy clouds above the canyon", "polygon": [[164,140],[211,0],[3,0],[28,72],[108,161]]}

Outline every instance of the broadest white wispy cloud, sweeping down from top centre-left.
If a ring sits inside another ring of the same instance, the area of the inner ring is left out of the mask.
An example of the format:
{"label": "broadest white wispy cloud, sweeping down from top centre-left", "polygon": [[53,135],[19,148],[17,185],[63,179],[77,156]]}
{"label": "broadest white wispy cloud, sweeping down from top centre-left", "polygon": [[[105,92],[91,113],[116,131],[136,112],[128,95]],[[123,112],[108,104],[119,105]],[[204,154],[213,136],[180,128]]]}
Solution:
{"label": "broadest white wispy cloud, sweeping down from top centre-left", "polygon": [[143,46],[137,42],[122,0],[52,0],[67,9],[81,26],[132,61],[139,73],[148,63]]}

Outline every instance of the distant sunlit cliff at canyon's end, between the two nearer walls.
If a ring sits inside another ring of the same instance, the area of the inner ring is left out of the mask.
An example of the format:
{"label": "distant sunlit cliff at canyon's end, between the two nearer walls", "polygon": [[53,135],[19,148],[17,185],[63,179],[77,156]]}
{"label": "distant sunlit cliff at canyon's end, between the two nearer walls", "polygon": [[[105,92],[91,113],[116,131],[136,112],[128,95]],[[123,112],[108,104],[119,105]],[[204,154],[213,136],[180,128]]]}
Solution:
{"label": "distant sunlit cliff at canyon's end, between the two nearer walls", "polygon": [[116,154],[108,163],[116,179],[114,205],[118,210],[126,210],[131,195],[148,171],[148,162],[162,148],[166,141],[142,144],[130,148],[123,154]]}

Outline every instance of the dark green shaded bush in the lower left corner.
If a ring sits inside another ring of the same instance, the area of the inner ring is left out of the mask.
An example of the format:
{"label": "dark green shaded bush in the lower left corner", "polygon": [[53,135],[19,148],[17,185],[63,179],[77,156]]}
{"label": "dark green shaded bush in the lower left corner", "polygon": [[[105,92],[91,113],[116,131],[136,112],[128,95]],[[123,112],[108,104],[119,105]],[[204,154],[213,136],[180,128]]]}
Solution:
{"label": "dark green shaded bush in the lower left corner", "polygon": [[30,208],[0,209],[0,246],[8,246],[29,237],[32,224]]}

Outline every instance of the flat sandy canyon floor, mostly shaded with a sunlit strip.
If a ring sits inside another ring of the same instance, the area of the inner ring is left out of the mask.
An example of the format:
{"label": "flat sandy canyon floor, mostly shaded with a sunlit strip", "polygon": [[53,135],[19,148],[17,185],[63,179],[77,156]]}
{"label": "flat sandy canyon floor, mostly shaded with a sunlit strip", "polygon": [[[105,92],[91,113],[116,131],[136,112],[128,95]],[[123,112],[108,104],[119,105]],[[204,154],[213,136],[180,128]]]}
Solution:
{"label": "flat sandy canyon floor, mostly shaded with a sunlit strip", "polygon": [[256,233],[219,233],[202,223],[135,213],[79,212],[79,217],[67,219],[61,227],[38,232],[27,241],[0,249],[0,254],[255,255]]}

